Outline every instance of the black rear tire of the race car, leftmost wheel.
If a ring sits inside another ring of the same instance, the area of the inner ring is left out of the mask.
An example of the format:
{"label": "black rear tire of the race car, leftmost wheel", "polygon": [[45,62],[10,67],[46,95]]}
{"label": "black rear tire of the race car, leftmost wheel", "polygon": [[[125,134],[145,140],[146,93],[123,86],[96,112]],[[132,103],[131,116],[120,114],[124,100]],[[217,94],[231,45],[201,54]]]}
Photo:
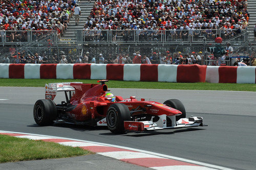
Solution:
{"label": "black rear tire of the race car, leftmost wheel", "polygon": [[52,125],[54,123],[53,120],[55,120],[57,116],[56,105],[49,99],[38,100],[34,105],[33,115],[37,125]]}

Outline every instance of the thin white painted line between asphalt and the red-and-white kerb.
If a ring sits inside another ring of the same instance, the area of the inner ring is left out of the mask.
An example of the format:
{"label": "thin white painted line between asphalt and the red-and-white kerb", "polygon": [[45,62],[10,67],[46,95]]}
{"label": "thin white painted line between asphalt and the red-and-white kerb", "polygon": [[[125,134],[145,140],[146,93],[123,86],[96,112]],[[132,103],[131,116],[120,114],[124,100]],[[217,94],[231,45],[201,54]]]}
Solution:
{"label": "thin white painted line between asphalt and the red-and-white kerb", "polygon": [[203,163],[203,162],[199,162],[199,161],[193,161],[193,160],[189,160],[189,159],[184,159],[184,158],[179,158],[179,157],[175,157],[175,156],[169,156],[169,155],[164,155],[164,154],[159,154],[159,153],[155,153],[155,152],[144,151],[144,150],[139,150],[139,149],[134,149],[134,148],[129,148],[129,147],[122,147],[120,145],[115,145],[115,144],[100,143],[100,142],[94,142],[94,141],[89,141],[89,140],[79,140],[79,139],[58,137],[58,136],[39,135],[39,134],[33,134],[33,133],[12,132],[12,131],[0,131],[0,132],[2,132],[2,133],[18,133],[18,134],[25,134],[25,135],[37,135],[37,136],[43,136],[43,137],[48,137],[48,138],[76,140],[76,141],[81,141],[81,142],[88,142],[88,143],[105,145],[107,147],[115,147],[115,148],[121,148],[121,149],[126,149],[126,150],[142,152],[142,153],[146,153],[146,154],[156,155],[156,156],[160,156],[160,157],[164,157],[164,158],[175,159],[175,160],[179,160],[179,161],[189,162],[189,163],[198,164],[198,165],[207,166],[207,167],[216,168],[216,169],[231,170],[231,168],[227,168],[227,167],[223,167],[223,166],[212,165],[212,164],[209,164],[209,163]]}

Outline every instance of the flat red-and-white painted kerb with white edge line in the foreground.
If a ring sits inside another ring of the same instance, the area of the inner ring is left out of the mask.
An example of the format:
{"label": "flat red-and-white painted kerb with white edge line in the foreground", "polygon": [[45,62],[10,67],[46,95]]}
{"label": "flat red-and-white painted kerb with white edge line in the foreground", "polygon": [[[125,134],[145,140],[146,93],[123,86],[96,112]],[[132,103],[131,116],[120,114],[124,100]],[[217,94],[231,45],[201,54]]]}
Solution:
{"label": "flat red-and-white painted kerb with white edge line in the foreground", "polygon": [[[149,167],[153,169],[226,169],[228,168],[211,165],[208,163],[187,160],[168,155],[157,154],[148,151],[121,147],[112,144],[91,142],[86,140],[62,138],[55,136],[37,135],[29,133],[17,133],[9,131],[0,131],[0,135],[9,135],[19,138],[28,138],[32,140],[44,140],[56,142],[71,147],[80,147],[84,150],[95,152],[99,155],[108,156],[121,160],[123,162],[136,164],[139,166]],[[168,158],[171,157],[171,158]],[[176,159],[174,159],[176,158]]]}

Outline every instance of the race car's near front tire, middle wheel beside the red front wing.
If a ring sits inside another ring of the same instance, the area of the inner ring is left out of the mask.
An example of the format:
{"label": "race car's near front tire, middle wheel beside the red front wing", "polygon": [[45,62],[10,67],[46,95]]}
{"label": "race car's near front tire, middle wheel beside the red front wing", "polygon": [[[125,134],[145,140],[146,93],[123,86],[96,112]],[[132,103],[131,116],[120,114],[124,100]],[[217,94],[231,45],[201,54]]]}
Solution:
{"label": "race car's near front tire, middle wheel beside the red front wing", "polygon": [[131,120],[129,108],[122,103],[111,105],[106,112],[106,125],[112,133],[124,133],[124,121]]}

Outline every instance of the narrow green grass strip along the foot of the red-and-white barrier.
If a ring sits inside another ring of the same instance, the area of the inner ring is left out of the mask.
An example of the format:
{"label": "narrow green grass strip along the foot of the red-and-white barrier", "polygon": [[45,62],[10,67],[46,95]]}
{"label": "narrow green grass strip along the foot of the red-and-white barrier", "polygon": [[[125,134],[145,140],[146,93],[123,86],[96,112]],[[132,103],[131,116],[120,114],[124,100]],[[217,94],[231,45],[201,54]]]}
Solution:
{"label": "narrow green grass strip along the foot of the red-and-white barrier", "polygon": [[[53,83],[53,82],[97,83],[97,80],[0,79],[0,86],[44,87],[45,83]],[[132,82],[132,81],[114,81],[114,80],[111,80],[106,84],[110,88],[256,91],[256,84]]]}

